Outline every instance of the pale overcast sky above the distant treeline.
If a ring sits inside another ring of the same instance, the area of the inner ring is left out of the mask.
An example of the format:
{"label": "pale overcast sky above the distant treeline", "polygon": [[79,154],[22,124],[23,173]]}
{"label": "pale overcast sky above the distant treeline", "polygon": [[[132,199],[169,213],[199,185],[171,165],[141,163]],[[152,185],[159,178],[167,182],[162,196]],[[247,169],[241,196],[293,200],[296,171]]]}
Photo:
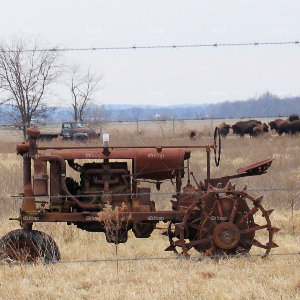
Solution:
{"label": "pale overcast sky above the distant treeline", "polygon": [[[41,4],[42,3],[42,4]],[[1,36],[39,33],[63,47],[285,42],[300,1],[3,1]],[[298,96],[296,45],[68,52],[105,72],[104,104],[217,103],[269,90]],[[65,89],[56,91],[68,98]]]}

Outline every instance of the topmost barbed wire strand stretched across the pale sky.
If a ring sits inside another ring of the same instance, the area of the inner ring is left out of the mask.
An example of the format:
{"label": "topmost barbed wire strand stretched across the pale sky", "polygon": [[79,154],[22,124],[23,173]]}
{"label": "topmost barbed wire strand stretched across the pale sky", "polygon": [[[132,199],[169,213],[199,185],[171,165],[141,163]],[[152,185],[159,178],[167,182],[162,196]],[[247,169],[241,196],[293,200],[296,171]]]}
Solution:
{"label": "topmost barbed wire strand stretched across the pale sky", "polygon": [[258,45],[288,45],[295,44],[299,45],[299,41],[295,40],[294,42],[251,42],[251,43],[221,43],[217,42],[213,44],[195,44],[195,45],[158,45],[158,46],[136,46],[131,47],[88,47],[88,48],[52,48],[52,49],[26,49],[26,50],[2,50],[2,53],[15,53],[15,52],[67,52],[67,51],[96,51],[96,50],[127,50],[127,49],[157,49],[157,48],[195,48],[195,47],[221,47],[221,46],[258,46]]}

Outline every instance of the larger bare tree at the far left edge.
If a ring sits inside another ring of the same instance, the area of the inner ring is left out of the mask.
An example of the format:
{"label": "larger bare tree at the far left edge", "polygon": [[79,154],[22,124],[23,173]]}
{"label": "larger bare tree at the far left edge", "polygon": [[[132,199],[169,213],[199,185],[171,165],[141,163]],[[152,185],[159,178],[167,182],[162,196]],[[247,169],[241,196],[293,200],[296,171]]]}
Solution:
{"label": "larger bare tree at the far left edge", "polygon": [[51,85],[57,81],[62,65],[61,52],[49,48],[40,37],[14,36],[0,44],[0,91],[3,93],[6,119],[22,130],[32,119],[47,118],[55,109],[49,105]]}

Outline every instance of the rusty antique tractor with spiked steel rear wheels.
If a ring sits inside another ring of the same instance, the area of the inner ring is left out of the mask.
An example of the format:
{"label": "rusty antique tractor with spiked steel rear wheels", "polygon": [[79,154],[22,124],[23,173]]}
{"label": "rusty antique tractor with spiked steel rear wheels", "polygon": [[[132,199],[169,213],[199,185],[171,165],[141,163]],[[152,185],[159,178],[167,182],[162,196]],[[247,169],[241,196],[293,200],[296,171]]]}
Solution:
{"label": "rusty antique tractor with spiked steel rear wheels", "polygon": [[[17,145],[17,154],[22,155],[24,166],[24,191],[20,194],[23,203],[19,217],[11,218],[18,220],[22,229],[1,238],[2,259],[45,262],[60,259],[54,240],[41,231],[32,230],[34,222],[67,222],[82,230],[105,232],[108,242],[116,242],[99,221],[99,212],[103,212],[107,203],[113,208],[126,207],[125,211],[117,211],[113,219],[117,222],[122,217],[117,243],[127,241],[129,230],[137,238],[150,237],[158,222],[163,221],[168,224],[162,234],[170,242],[165,251],[183,256],[190,256],[193,249],[202,256],[231,256],[246,254],[251,247],[258,247],[264,249],[262,256],[265,257],[271,248],[278,247],[273,242],[273,233],[279,228],[271,225],[272,210],[262,207],[262,196],[250,196],[246,186],[235,190],[235,184],[230,182],[233,178],[267,173],[273,159],[239,168],[235,175],[210,178],[210,158],[214,157],[218,166],[221,157],[218,128],[212,145],[184,147],[206,150],[204,183],[197,181],[190,172],[191,150],[183,150],[183,147],[110,147],[108,134],[104,134],[103,147],[53,149],[38,147],[40,131],[37,128],[28,128],[27,134],[28,140]],[[49,149],[52,150],[50,155],[41,153]],[[79,160],[87,162],[80,164]],[[79,173],[80,182],[66,177],[67,166]],[[187,184],[182,187],[185,171]],[[171,209],[157,211],[150,188],[138,185],[155,183],[159,190],[163,181],[171,181],[176,190],[170,199]],[[256,213],[262,215],[264,224],[256,224]],[[256,239],[259,230],[265,230],[265,234],[260,235],[264,241]]]}

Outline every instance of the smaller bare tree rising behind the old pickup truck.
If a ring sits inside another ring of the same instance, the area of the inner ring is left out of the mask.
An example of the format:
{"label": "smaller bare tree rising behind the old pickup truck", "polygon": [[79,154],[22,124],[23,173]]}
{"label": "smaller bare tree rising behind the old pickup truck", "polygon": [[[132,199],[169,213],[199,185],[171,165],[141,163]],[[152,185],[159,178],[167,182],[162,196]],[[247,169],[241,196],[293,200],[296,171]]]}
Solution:
{"label": "smaller bare tree rising behind the old pickup truck", "polygon": [[93,96],[103,88],[99,83],[103,74],[93,73],[90,67],[83,69],[79,64],[70,68],[66,81],[72,97],[72,116],[75,121],[83,121],[88,108],[94,103]]}

